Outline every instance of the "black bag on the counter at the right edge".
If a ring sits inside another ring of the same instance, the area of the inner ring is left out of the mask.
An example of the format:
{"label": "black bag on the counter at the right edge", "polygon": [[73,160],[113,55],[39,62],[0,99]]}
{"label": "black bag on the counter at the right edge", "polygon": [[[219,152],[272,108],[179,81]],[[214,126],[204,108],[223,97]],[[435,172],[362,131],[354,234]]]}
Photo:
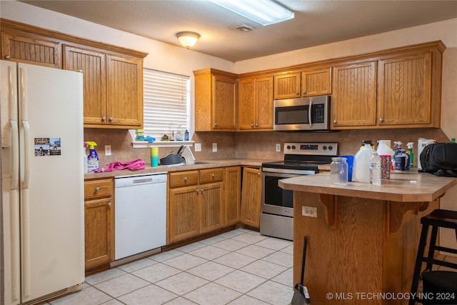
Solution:
{"label": "black bag on the counter at the right edge", "polygon": [[424,147],[422,171],[435,176],[457,177],[457,143],[435,143]]}

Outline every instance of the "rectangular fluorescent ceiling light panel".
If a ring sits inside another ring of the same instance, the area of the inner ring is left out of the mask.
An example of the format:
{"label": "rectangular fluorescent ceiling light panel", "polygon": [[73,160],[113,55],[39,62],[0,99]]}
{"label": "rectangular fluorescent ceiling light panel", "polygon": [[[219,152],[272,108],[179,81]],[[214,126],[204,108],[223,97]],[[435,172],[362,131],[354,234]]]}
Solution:
{"label": "rectangular fluorescent ceiling light panel", "polygon": [[293,19],[293,11],[284,9],[271,0],[210,0],[214,4],[229,9],[236,14],[244,16],[258,24],[268,26],[281,21]]}

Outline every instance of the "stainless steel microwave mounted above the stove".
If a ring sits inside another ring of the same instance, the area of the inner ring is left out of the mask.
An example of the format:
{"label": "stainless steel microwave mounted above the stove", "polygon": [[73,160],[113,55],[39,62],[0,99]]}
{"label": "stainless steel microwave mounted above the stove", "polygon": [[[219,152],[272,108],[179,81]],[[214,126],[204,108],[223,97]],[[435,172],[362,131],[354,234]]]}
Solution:
{"label": "stainless steel microwave mounted above the stove", "polygon": [[273,130],[312,131],[330,129],[330,96],[273,101]]}

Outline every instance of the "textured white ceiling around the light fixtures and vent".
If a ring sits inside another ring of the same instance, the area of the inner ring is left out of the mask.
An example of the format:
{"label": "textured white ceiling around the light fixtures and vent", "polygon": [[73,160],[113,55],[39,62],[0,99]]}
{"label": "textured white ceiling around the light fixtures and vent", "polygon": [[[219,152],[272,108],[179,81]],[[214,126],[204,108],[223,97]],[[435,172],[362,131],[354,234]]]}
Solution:
{"label": "textured white ceiling around the light fixtures and vent", "polygon": [[[457,18],[455,0],[280,0],[277,2],[295,12],[295,18],[270,26],[256,24],[205,0],[21,2],[175,45],[179,45],[176,33],[196,31],[201,38],[192,49],[230,61]],[[230,29],[241,24],[256,29]]]}

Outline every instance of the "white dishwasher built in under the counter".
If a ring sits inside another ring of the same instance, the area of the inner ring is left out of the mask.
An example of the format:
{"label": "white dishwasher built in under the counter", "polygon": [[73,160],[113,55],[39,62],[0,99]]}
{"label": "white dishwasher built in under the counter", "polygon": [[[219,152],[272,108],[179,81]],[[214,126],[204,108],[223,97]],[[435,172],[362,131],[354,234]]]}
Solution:
{"label": "white dishwasher built in under the counter", "polygon": [[114,259],[166,244],[166,173],[114,178]]}

